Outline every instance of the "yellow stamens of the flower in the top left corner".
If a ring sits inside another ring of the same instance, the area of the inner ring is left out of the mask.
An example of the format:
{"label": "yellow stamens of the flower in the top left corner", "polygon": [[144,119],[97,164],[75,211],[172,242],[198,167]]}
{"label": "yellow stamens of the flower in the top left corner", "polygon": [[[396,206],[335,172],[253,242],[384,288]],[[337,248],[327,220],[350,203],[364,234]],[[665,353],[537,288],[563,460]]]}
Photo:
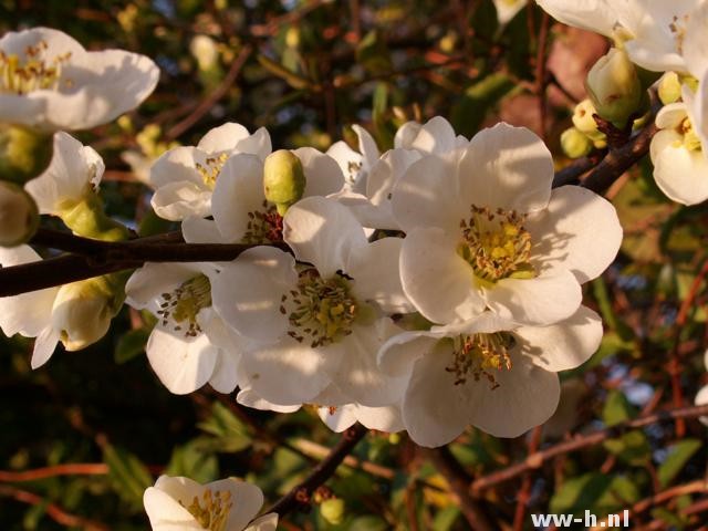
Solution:
{"label": "yellow stamens of the flower in the top left corner", "polygon": [[[62,65],[71,52],[56,55],[51,61],[42,59],[46,42],[40,41],[24,51],[25,60],[0,50],[0,94],[28,94],[33,91],[56,90],[62,74]],[[64,83],[71,85],[70,80]]]}

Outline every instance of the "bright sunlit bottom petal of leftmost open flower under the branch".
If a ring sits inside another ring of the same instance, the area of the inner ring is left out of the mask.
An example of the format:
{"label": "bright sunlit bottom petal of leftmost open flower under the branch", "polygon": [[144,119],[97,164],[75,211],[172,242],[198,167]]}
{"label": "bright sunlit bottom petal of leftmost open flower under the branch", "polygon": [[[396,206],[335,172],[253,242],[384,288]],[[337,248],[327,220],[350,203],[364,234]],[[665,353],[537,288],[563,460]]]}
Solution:
{"label": "bright sunlit bottom petal of leftmost open flower under the branch", "polygon": [[192,393],[214,374],[219,348],[205,334],[185,337],[156,326],[145,347],[159,381],[176,395]]}

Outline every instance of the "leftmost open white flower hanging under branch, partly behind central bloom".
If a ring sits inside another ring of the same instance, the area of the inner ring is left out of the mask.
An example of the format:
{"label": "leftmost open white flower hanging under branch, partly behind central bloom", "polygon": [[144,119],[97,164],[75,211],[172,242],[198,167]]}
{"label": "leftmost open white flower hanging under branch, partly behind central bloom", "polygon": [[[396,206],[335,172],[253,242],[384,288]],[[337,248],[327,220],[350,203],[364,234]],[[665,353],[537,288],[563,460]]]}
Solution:
{"label": "leftmost open white flower hanging under branch, partly behind central bloom", "polygon": [[191,393],[209,383],[230,393],[239,378],[243,340],[211,308],[209,263],[146,263],[133,273],[126,302],[158,319],[145,347],[147,360],[171,393]]}

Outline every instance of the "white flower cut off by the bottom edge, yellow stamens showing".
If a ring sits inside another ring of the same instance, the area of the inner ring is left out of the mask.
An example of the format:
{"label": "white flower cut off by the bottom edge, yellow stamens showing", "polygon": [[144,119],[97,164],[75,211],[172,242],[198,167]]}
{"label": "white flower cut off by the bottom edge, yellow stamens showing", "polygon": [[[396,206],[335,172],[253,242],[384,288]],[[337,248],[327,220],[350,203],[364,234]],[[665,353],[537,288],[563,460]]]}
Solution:
{"label": "white flower cut off by the bottom edge, yellow stamens showing", "polygon": [[278,514],[256,518],[263,493],[235,478],[200,485],[189,478],[160,476],[143,496],[153,531],[275,531]]}

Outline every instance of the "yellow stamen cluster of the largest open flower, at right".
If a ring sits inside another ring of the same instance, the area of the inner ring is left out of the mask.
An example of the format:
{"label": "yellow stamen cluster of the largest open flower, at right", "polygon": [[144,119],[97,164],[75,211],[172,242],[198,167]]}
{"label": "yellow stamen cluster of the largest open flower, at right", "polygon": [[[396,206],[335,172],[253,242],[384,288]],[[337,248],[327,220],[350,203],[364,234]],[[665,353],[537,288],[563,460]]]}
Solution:
{"label": "yellow stamen cluster of the largest open flower, at right", "polygon": [[493,283],[508,277],[535,277],[529,263],[531,235],[523,228],[524,216],[476,205],[471,212],[469,220],[460,221],[462,241],[457,253],[472,267],[477,278]]}

